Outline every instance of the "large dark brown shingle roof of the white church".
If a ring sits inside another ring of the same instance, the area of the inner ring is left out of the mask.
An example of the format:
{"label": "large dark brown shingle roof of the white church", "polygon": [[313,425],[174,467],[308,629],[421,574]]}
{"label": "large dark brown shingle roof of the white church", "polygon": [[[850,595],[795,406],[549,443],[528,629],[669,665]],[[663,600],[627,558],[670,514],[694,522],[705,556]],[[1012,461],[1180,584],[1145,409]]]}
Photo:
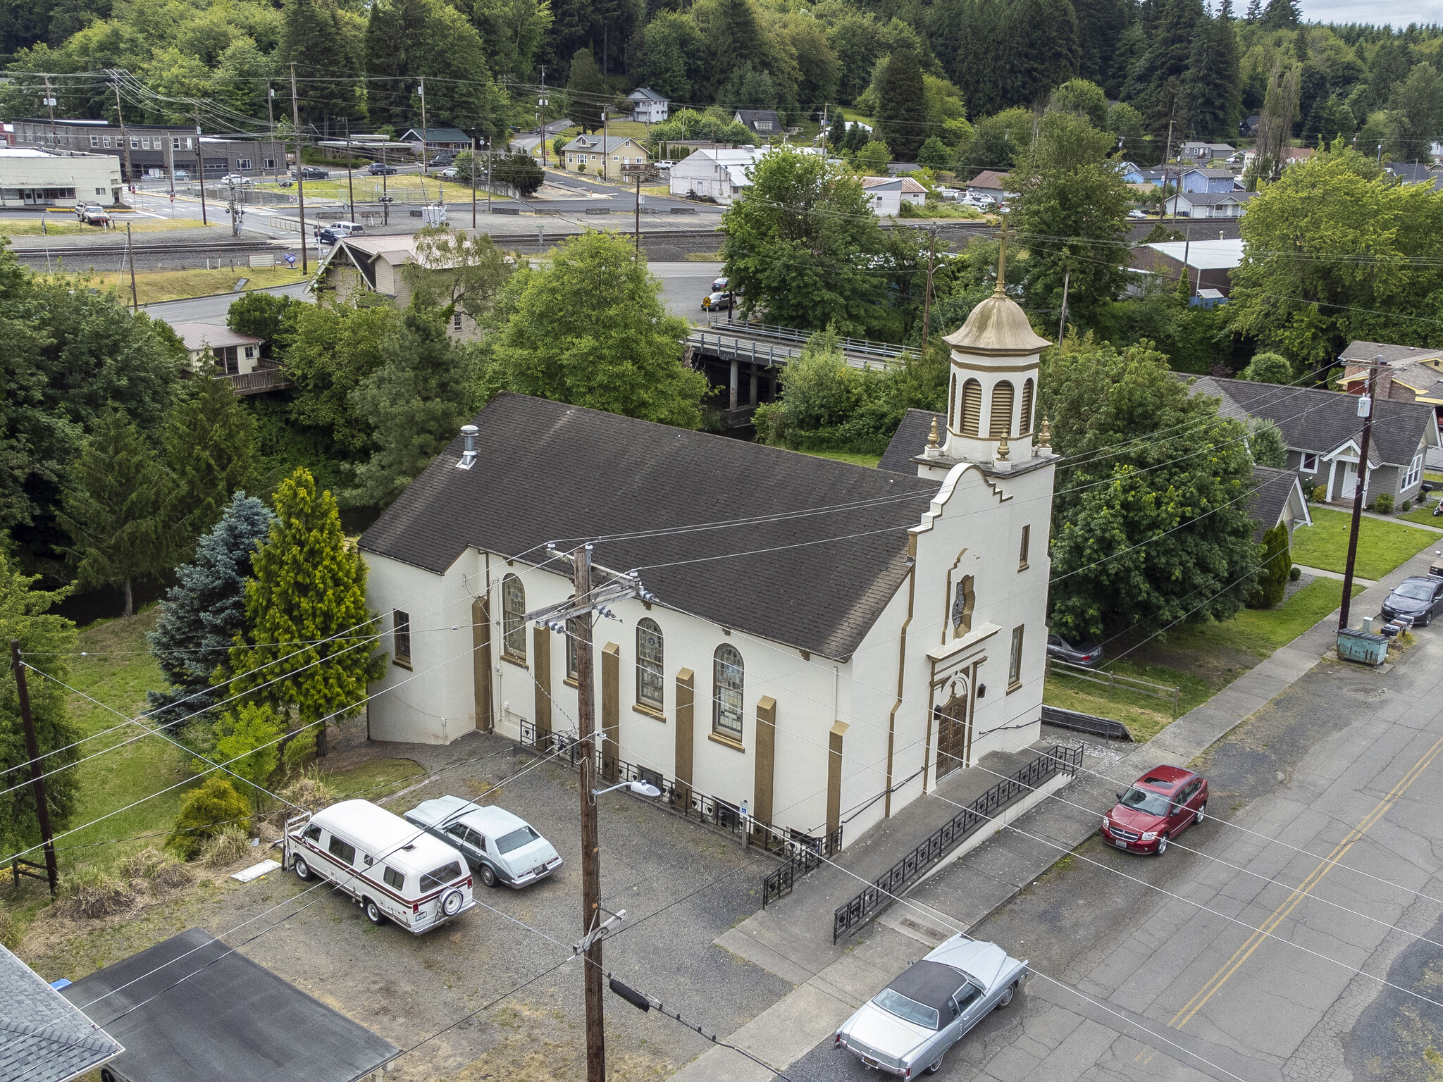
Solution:
{"label": "large dark brown shingle roof of the white church", "polygon": [[476,466],[456,469],[457,436],[362,534],[362,550],[440,574],[472,545],[541,563],[547,541],[567,547],[811,509],[600,541],[595,560],[644,568],[662,604],[827,658],[848,658],[902,583],[906,529],[938,489],[916,476],[521,394],[496,395],[473,423]]}

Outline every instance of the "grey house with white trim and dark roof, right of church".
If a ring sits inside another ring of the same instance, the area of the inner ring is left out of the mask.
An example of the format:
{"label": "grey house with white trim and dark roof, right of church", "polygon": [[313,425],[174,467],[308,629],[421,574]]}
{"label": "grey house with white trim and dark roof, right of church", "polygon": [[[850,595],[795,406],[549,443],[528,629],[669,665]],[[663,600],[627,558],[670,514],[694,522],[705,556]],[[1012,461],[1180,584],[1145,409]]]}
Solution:
{"label": "grey house with white trim and dark roof, right of church", "polygon": [[[1351,502],[1358,486],[1362,418],[1358,397],[1317,387],[1283,387],[1248,379],[1192,379],[1193,394],[1221,400],[1224,417],[1264,417],[1283,433],[1287,467],[1303,488],[1323,488],[1328,502]],[[1423,403],[1380,398],[1374,403],[1372,439],[1364,470],[1364,495],[1390,493],[1395,503],[1416,499],[1423,483],[1423,456],[1439,444],[1433,408]]]}

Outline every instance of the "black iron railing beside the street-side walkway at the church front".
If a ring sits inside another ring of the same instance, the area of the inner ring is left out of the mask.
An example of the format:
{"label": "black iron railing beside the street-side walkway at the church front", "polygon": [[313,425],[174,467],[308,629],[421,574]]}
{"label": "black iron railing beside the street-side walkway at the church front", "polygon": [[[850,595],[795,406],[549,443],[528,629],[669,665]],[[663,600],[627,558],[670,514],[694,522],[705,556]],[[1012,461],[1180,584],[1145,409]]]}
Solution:
{"label": "black iron railing beside the street-side walkway at the church front", "polygon": [[931,871],[938,861],[957,848],[980,827],[991,822],[997,812],[1020,795],[1036,789],[1055,775],[1075,775],[1082,765],[1081,747],[1053,744],[1016,773],[1003,778],[932,835],[874,879],[860,894],[837,907],[833,915],[831,942],[838,942],[886,909],[908,887]]}

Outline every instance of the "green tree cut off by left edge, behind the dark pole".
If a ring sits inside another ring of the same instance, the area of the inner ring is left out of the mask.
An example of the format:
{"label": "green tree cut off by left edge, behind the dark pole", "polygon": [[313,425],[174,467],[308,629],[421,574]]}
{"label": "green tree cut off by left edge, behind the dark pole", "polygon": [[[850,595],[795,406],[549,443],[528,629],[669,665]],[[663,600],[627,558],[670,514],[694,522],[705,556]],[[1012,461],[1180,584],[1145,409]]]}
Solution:
{"label": "green tree cut off by left edge, behind the dark pole", "polygon": [[[20,641],[20,656],[35,655],[35,662],[55,679],[69,682],[66,656],[75,651],[75,625],[63,616],[46,612],[69,593],[62,590],[36,590],[40,576],[23,576],[0,547],[0,642],[7,648],[10,639]],[[66,770],[79,757],[74,744],[81,739],[79,726],[66,711],[69,692],[59,684],[43,677],[30,675],[26,681],[30,691],[30,720],[35,723],[36,744],[40,755],[48,756],[45,769],[46,802],[51,808],[52,830],[63,830],[75,812],[79,793],[79,770]],[[65,749],[63,752],[59,749]],[[22,769],[30,760],[25,744],[25,727],[20,721],[20,700],[14,679],[0,679],[0,848],[6,853],[29,848],[40,841],[40,822],[35,811],[35,798],[29,785],[29,769]],[[16,788],[10,788],[16,786]],[[38,860],[32,853],[30,860]]]}

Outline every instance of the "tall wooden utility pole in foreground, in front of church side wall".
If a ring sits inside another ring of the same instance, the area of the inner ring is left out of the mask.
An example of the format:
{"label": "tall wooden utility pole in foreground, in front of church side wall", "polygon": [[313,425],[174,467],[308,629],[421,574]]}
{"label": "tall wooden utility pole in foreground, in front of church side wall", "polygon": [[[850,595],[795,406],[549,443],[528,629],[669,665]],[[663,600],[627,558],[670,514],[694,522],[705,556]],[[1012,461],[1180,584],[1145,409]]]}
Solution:
{"label": "tall wooden utility pole in foreground, in front of church side wall", "polygon": [[[592,545],[571,555],[576,602],[592,603]],[[596,711],[592,697],[592,610],[570,622],[576,633],[576,714],[582,743],[582,935],[602,926],[602,854],[596,830]],[[586,1079],[606,1082],[606,1030],[602,1024],[602,942],[597,938],[584,955],[582,980],[586,990]]]}

